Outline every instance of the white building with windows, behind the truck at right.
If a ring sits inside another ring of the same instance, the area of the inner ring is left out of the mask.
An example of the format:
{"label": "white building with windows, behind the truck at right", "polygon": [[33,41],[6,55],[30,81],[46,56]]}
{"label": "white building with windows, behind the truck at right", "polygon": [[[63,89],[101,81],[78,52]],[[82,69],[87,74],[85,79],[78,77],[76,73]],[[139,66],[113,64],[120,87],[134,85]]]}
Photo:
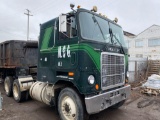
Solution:
{"label": "white building with windows, behind the truck at right", "polygon": [[130,57],[160,59],[160,26],[152,25],[137,36],[124,32]]}

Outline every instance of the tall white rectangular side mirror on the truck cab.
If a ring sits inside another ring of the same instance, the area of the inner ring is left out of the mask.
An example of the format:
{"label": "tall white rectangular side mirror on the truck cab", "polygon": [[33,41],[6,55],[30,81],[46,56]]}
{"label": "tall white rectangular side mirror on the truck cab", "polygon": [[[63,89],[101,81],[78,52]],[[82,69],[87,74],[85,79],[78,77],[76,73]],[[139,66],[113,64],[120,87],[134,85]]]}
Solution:
{"label": "tall white rectangular side mirror on the truck cab", "polygon": [[66,15],[59,16],[59,32],[67,32],[67,19]]}

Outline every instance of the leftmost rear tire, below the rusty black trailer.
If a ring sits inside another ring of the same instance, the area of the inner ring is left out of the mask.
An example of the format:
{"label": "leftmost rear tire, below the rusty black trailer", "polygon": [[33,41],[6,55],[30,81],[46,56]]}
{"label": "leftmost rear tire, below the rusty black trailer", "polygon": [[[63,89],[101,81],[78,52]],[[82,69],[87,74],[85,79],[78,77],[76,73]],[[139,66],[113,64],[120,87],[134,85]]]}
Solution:
{"label": "leftmost rear tire, below the rusty black trailer", "polygon": [[13,86],[13,78],[11,76],[7,76],[4,80],[4,90],[8,97],[11,97],[13,95],[12,86]]}

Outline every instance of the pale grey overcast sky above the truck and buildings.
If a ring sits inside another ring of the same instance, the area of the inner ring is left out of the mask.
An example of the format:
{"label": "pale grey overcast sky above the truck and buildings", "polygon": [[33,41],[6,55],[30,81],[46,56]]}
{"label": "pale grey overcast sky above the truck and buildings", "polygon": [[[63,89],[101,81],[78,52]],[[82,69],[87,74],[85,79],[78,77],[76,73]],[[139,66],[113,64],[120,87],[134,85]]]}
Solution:
{"label": "pale grey overcast sky above the truck and buildings", "polygon": [[160,25],[160,0],[0,0],[0,41],[26,40],[30,14],[30,39],[37,40],[39,24],[70,10],[70,3],[82,8],[98,7],[98,13],[117,17],[123,30],[138,34],[153,24]]}

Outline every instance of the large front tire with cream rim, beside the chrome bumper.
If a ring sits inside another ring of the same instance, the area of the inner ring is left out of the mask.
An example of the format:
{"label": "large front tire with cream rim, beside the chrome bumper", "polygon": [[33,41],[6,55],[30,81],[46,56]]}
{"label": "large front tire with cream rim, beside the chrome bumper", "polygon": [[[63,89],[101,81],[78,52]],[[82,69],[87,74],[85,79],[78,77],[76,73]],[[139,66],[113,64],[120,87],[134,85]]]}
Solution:
{"label": "large front tire with cream rim, beside the chrome bumper", "polygon": [[[61,120],[84,120],[84,109],[80,96],[71,88],[64,88],[58,96],[58,112]],[[86,119],[85,119],[86,120]]]}

